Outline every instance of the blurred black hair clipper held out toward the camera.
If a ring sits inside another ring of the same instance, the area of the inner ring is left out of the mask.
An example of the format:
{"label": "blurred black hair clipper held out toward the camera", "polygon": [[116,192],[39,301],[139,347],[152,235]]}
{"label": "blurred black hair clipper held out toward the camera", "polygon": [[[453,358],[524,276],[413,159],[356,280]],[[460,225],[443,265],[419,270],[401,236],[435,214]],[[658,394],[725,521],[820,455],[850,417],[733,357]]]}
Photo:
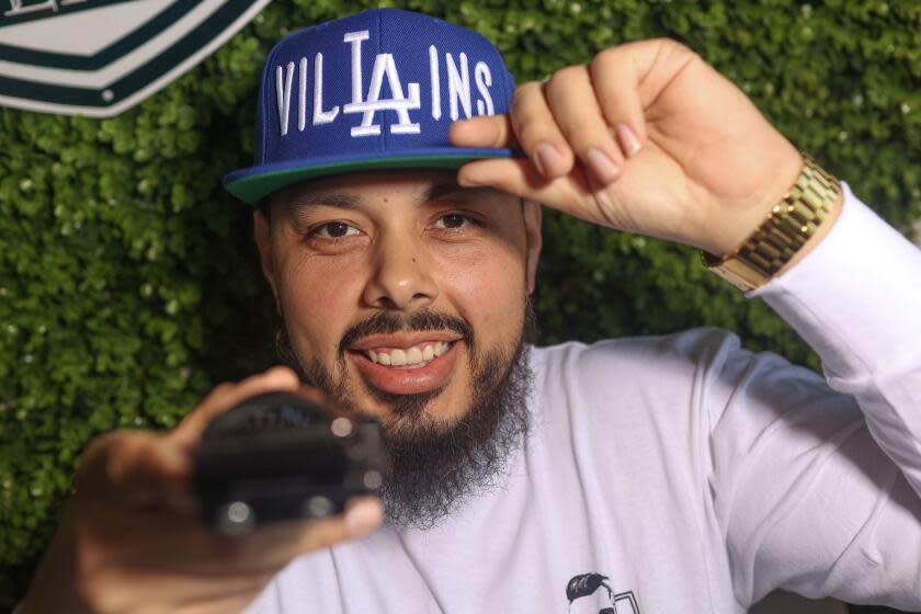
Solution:
{"label": "blurred black hair clipper held out toward the camera", "polygon": [[385,456],[376,422],[330,418],[310,400],[270,393],[212,420],[194,458],[205,522],[239,534],[341,512],[380,487]]}

